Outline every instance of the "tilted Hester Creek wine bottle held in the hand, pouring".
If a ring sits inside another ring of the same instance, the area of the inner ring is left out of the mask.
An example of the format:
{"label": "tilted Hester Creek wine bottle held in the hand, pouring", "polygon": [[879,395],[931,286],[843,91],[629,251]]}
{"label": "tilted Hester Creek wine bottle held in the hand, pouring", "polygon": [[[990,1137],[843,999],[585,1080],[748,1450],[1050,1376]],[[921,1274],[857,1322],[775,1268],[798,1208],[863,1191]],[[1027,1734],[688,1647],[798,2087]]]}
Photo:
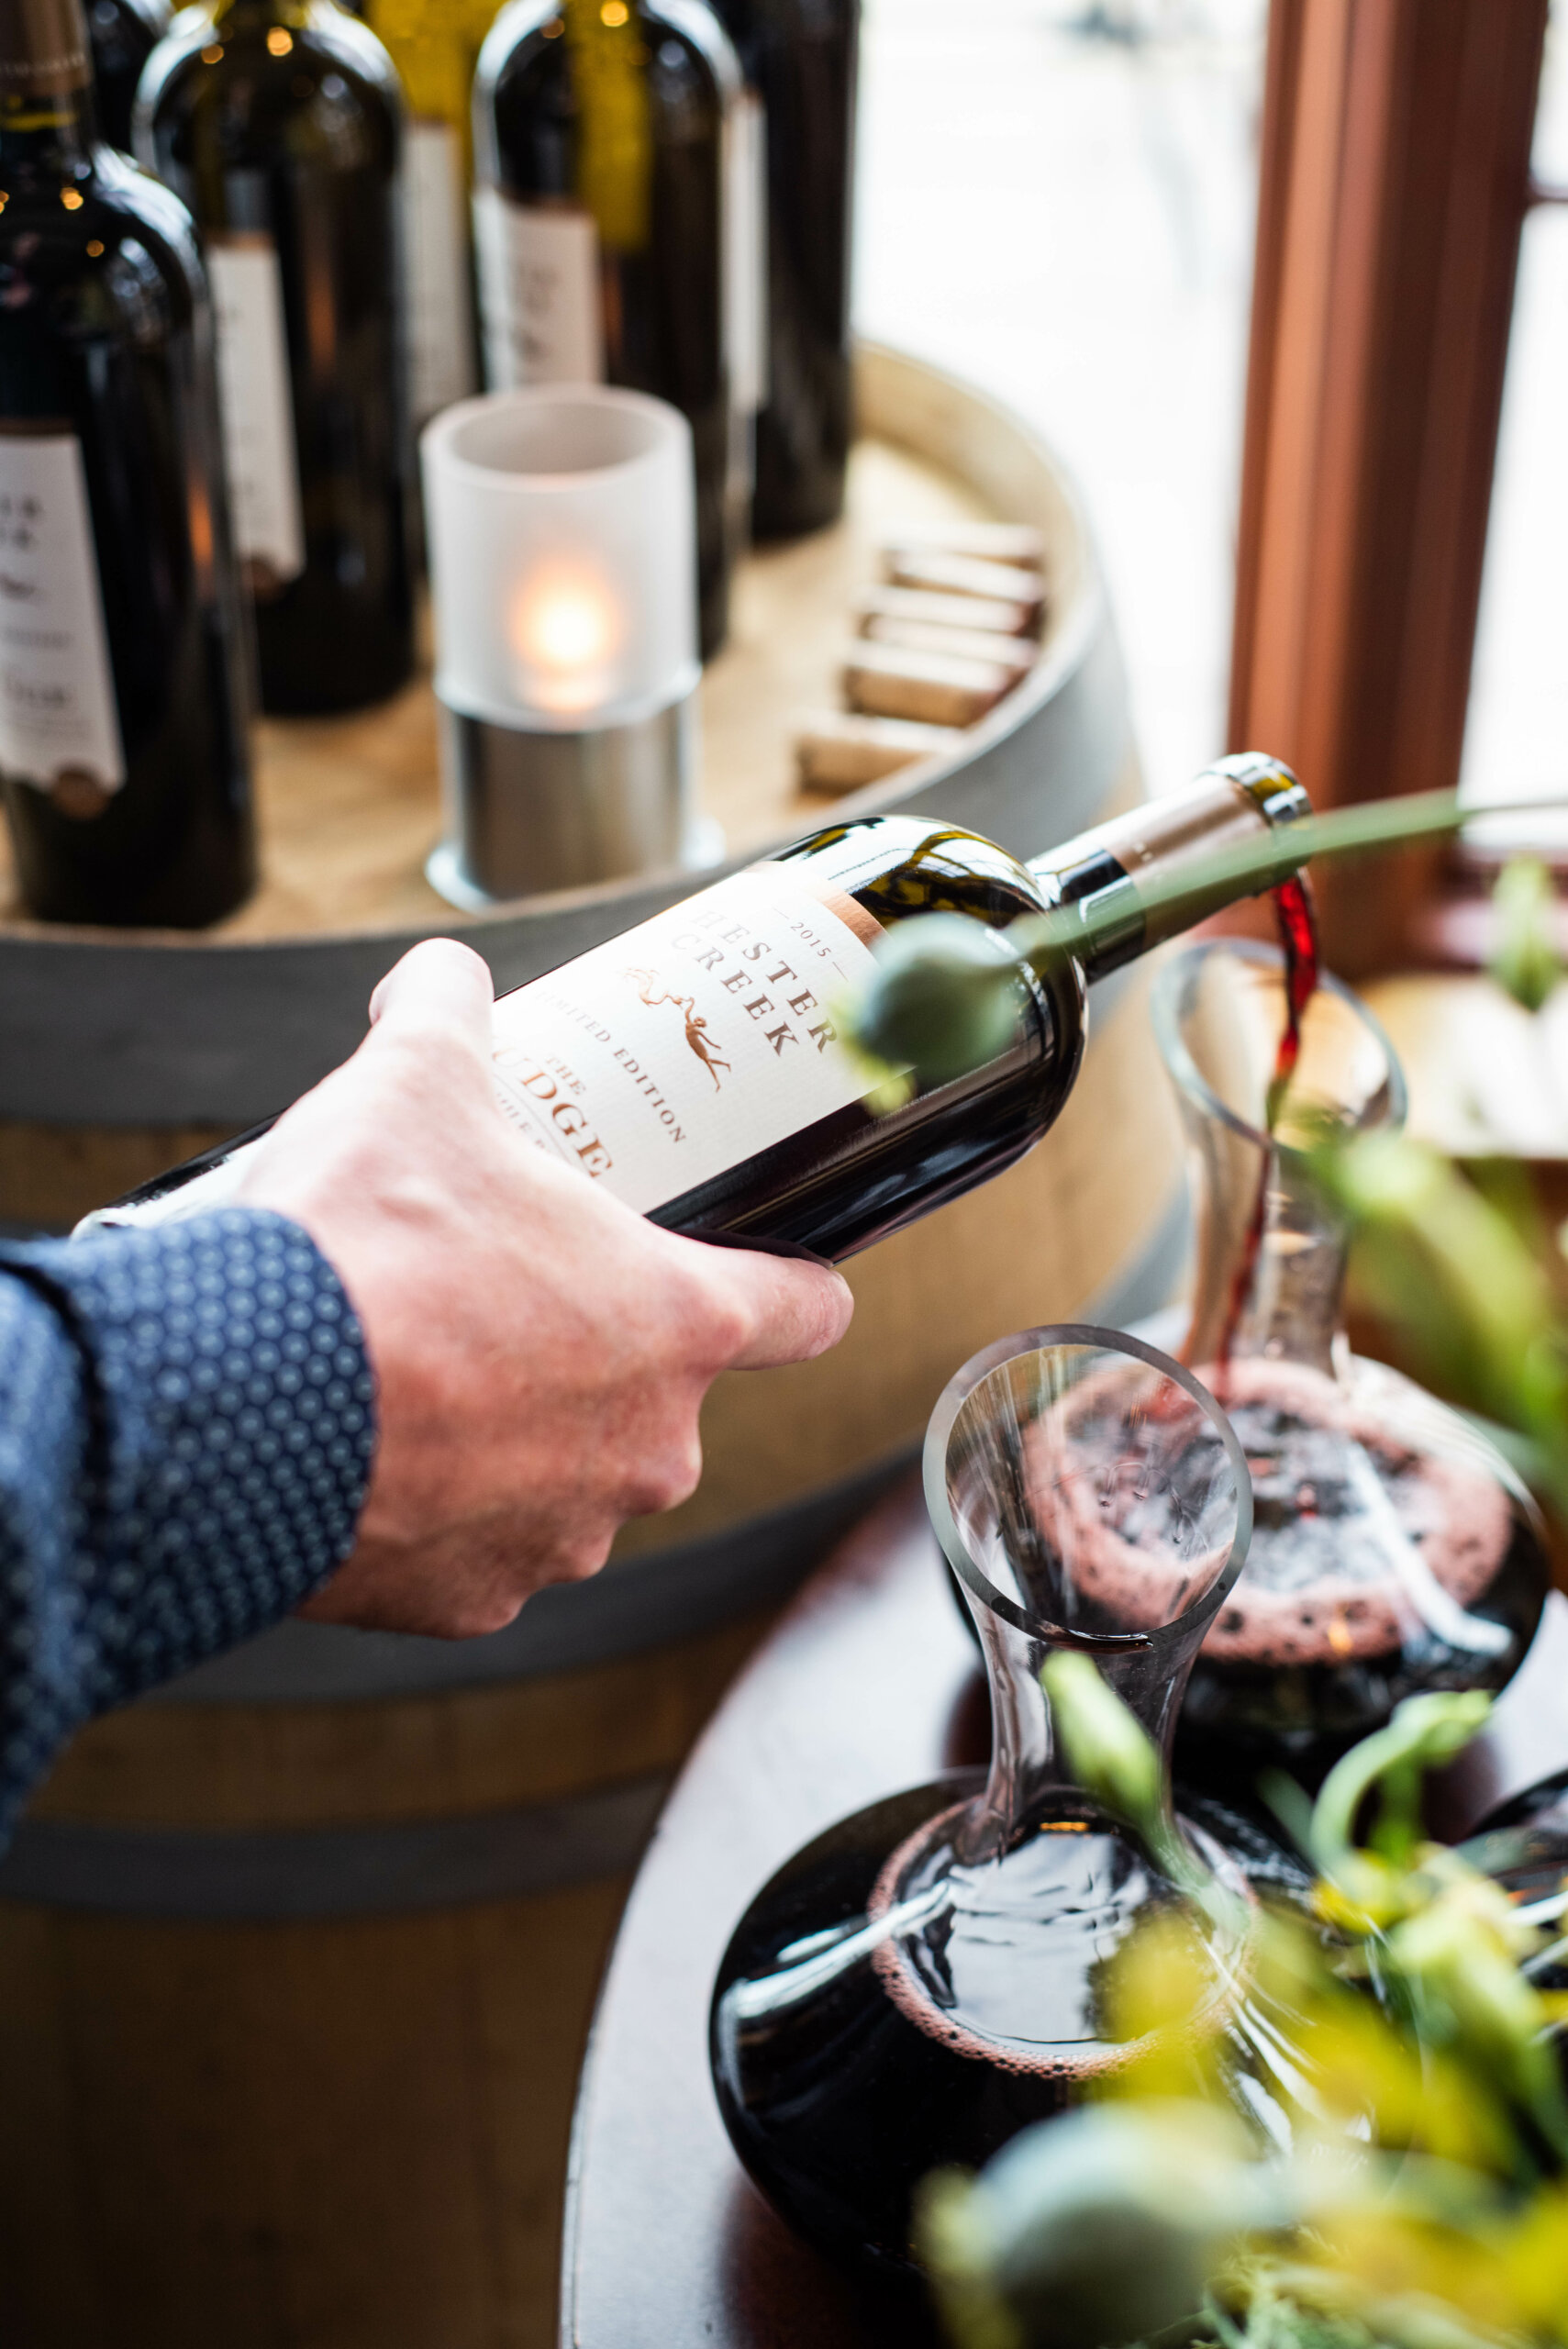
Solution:
{"label": "tilted Hester Creek wine bottle held in the hand, pouring", "polygon": [[[1230,759],[1028,867],[918,815],[831,824],[502,996],[495,1097],[530,1142],[655,1224],[852,1257],[1000,1174],[1054,1123],[1082,1059],[1084,970],[1129,961],[1242,888],[1216,895],[1199,881],[1145,930],[1117,921],[1099,958],[1063,954],[1047,977],[1019,965],[1005,1048],[878,1116],[836,1001],[873,970],[885,930],[930,911],[1002,928],[1063,890],[1122,904],[1138,876],[1305,810],[1289,768]],[[1289,839],[1279,848],[1272,879],[1291,869]],[[89,1221],[216,1205],[251,1139]]]}

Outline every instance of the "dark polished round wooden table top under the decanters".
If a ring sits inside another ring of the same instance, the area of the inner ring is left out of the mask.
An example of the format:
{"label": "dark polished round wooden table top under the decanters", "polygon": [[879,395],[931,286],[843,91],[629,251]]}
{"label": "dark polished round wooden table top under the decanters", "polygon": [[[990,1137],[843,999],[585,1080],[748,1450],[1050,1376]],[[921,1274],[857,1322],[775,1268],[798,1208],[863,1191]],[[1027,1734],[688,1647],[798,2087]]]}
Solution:
{"label": "dark polished round wooden table top under the decanters", "polygon": [[[718,1959],[753,1891],[836,1818],[984,1759],[974,1647],[918,1480],[843,1543],[730,1689],[627,1905],[577,2098],[561,2349],[920,2349],[749,2185],[709,2086]],[[1568,1602],[1549,1602],[1441,1832],[1568,1766]]]}

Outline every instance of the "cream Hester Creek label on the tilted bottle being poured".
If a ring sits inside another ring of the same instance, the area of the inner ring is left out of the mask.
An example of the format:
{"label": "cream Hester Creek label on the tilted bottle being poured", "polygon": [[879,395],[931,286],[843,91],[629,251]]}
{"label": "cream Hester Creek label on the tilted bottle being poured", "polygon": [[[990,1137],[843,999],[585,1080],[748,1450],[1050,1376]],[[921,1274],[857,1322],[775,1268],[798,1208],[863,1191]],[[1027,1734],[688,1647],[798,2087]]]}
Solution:
{"label": "cream Hester Creek label on the tilted bottle being poured", "polygon": [[866,1092],[838,994],[878,923],[756,864],[495,1005],[505,1116],[648,1214]]}

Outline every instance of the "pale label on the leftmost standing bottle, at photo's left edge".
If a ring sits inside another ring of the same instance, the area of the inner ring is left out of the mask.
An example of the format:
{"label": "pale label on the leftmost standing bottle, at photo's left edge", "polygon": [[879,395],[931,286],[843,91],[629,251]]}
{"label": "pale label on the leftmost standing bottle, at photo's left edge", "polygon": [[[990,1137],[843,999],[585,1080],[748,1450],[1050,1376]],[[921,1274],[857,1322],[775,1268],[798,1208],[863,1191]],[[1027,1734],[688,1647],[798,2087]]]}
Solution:
{"label": "pale label on the leftmost standing bottle, at photo's left edge", "polygon": [[0,768],[77,817],[124,782],[82,449],[21,420],[0,423]]}

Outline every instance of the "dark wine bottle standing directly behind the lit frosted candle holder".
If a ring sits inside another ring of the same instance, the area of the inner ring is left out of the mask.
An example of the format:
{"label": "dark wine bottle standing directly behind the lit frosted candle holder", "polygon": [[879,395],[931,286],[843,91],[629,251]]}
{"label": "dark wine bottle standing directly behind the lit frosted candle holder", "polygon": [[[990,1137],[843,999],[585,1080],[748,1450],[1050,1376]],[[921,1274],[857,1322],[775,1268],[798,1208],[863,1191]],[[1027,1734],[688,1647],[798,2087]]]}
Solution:
{"label": "dark wine bottle standing directly behind the lit frosted candle holder", "polygon": [[725,242],[737,99],[707,0],[512,0],[474,80],[486,378],[617,383],[683,411],[704,660],[725,637],[749,498]]}

